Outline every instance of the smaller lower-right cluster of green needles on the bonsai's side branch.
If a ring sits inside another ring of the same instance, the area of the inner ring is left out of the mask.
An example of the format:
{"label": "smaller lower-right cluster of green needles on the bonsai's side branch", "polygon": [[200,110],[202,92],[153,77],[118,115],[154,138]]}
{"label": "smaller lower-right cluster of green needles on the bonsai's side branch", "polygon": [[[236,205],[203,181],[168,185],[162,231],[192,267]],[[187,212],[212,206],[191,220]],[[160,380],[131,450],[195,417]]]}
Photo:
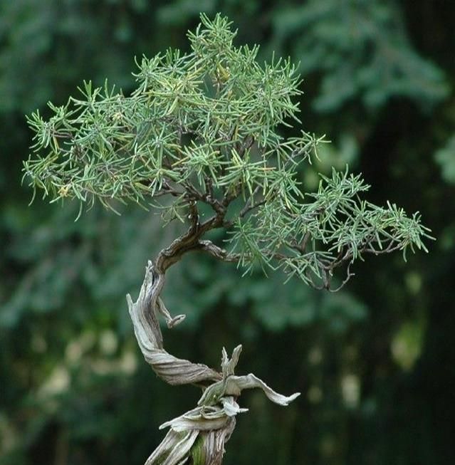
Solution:
{"label": "smaller lower-right cluster of green needles on the bonsai's side branch", "polygon": [[[313,202],[283,205],[279,198],[263,204],[246,221],[238,221],[232,233],[239,262],[251,268],[255,261],[265,269],[275,261],[288,274],[305,283],[330,288],[335,268],[363,259],[407,249],[427,248],[422,237],[430,237],[419,213],[408,218],[402,208],[387,202],[379,207],[361,199],[370,188],[360,175],[333,169],[332,177],[320,181],[318,192],[307,194]],[[317,284],[316,284],[317,283]],[[343,286],[345,281],[343,281]]]}

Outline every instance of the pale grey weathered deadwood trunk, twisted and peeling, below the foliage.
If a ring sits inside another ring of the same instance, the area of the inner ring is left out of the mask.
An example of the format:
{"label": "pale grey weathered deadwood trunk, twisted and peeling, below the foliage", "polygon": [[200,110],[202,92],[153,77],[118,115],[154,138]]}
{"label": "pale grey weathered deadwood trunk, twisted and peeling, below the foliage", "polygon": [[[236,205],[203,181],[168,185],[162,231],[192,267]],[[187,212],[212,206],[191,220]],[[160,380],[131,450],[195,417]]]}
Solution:
{"label": "pale grey weathered deadwood trunk, twisted and peeling, below the foliage", "polygon": [[[172,263],[169,261],[169,266]],[[246,376],[234,375],[241,345],[234,349],[231,358],[223,348],[221,372],[201,363],[179,359],[164,350],[158,316],[164,317],[168,328],[181,323],[185,316],[172,317],[159,297],[167,267],[159,267],[162,269],[159,273],[157,266],[149,261],[137,301],[133,302],[130,294],[127,295],[137,343],[147,363],[170,385],[199,384],[208,387],[204,389],[196,408],[159,427],[170,429],[145,465],[221,465],[224,443],[234,431],[236,414],[247,410],[239,407],[236,402],[242,390],[259,387],[268,399],[280,405],[288,405],[300,393],[286,397],[273,391],[252,373]]]}

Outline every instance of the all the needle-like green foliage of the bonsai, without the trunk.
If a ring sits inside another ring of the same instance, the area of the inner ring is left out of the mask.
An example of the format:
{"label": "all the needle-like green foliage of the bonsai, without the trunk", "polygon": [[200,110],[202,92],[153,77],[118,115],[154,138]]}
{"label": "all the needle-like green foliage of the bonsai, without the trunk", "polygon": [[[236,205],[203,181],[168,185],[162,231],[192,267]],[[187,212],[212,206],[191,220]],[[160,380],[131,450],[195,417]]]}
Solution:
{"label": "all the needle-like green foliage of the bonsai, without the trunk", "polygon": [[[113,210],[111,201],[129,200],[164,208],[166,221],[185,221],[187,211],[196,224],[205,203],[216,216],[203,229],[232,229],[229,261],[282,267],[323,288],[364,252],[424,248],[418,214],[362,201],[368,187],[347,169],[323,177],[305,202],[297,172],[323,139],[279,132],[300,122],[296,68],[281,59],[259,66],[258,46],[234,46],[229,24],[203,15],[190,53],[142,58],[130,96],[86,82],[81,99],[49,103],[49,120],[33,113],[34,154],[24,167],[33,189],[51,202],[78,199],[80,211],[95,199]],[[172,202],[157,204],[163,196]],[[235,200],[243,206],[233,217]]]}

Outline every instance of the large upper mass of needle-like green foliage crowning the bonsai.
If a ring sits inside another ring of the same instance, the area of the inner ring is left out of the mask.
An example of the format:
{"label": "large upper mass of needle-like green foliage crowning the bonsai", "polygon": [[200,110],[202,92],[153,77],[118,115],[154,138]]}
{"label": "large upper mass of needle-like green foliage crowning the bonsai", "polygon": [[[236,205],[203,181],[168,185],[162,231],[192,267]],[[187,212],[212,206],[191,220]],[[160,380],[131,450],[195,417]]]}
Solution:
{"label": "large upper mass of needle-like green foliage crowning the bonsai", "polygon": [[[267,184],[273,155],[307,155],[308,136],[284,145],[273,132],[285,117],[295,117],[295,68],[278,61],[262,70],[258,48],[232,46],[235,34],[226,20],[204,23],[206,30],[190,36],[193,53],[143,58],[130,97],[107,84],[102,95],[85,83],[83,100],[50,105],[50,120],[34,113],[34,148],[47,152],[26,163],[34,185],[53,199],[142,202],[145,195],[166,194],[172,183],[185,188],[193,177],[194,189],[204,187],[208,177],[216,189],[239,184],[251,196]],[[253,142],[261,151],[257,162],[251,160]]]}

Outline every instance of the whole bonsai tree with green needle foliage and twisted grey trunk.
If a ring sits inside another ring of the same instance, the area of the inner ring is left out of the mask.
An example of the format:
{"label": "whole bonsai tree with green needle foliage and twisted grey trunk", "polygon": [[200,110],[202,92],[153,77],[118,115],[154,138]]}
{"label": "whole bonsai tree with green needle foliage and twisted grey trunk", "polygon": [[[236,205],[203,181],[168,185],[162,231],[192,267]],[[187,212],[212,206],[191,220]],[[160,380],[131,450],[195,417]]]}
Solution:
{"label": "whole bonsai tree with green needle foliage and twisted grey trunk", "polygon": [[[387,202],[362,199],[369,186],[360,175],[332,172],[317,192],[303,192],[299,172],[317,157],[323,137],[300,126],[300,78],[291,61],[260,66],[258,46],[234,46],[227,19],[201,16],[189,32],[191,51],[169,50],[142,58],[130,94],[86,82],[81,95],[53,115],[28,118],[34,132],[24,177],[51,202],[118,202],[161,209],[164,224],[181,221],[184,232],[148,261],[137,301],[127,296],[135,336],[145,360],[165,382],[202,388],[197,407],[164,423],[164,440],[146,464],[221,464],[237,400],[253,387],[277,404],[298,397],[274,392],[255,375],[235,375],[241,346],[222,350],[221,371],[164,349],[161,315],[168,328],[184,320],[162,301],[166,272],[184,254],[199,251],[245,271],[281,269],[303,284],[335,291],[366,254],[425,249],[419,214],[406,216]],[[216,244],[210,231],[223,229]],[[339,276],[337,276],[339,275]]]}

